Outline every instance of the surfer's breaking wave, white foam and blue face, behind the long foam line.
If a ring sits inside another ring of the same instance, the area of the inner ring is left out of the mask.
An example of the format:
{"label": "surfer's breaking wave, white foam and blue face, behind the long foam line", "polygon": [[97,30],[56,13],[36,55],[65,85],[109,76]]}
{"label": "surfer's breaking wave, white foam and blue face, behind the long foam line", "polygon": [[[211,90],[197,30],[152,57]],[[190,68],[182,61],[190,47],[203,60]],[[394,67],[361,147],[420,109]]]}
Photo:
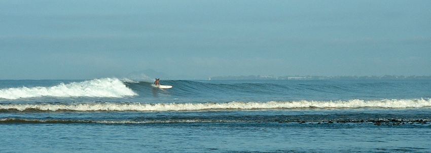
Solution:
{"label": "surfer's breaking wave, white foam and blue face, behind the long foam line", "polygon": [[[36,100],[53,103],[58,101],[113,101],[112,98],[124,98],[115,100],[143,103],[199,103],[299,100],[347,101],[351,99],[375,100],[431,97],[429,93],[431,91],[431,82],[428,80],[162,80],[162,85],[173,86],[173,88],[167,90],[154,88],[151,86],[151,82],[121,81],[116,78],[60,82],[63,81],[0,80],[0,101],[32,103]],[[56,97],[69,98],[58,100]],[[98,98],[92,99],[91,97]]]}

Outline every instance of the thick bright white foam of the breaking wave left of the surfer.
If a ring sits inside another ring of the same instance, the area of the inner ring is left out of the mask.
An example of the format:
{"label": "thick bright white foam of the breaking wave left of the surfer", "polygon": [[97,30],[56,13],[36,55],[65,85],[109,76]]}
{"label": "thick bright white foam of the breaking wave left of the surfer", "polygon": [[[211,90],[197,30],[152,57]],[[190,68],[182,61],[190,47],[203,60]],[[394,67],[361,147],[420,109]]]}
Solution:
{"label": "thick bright white foam of the breaking wave left of the surfer", "polygon": [[137,95],[119,79],[103,78],[90,81],[59,84],[52,87],[19,87],[0,89],[0,98],[18,99],[29,97],[123,97]]}

